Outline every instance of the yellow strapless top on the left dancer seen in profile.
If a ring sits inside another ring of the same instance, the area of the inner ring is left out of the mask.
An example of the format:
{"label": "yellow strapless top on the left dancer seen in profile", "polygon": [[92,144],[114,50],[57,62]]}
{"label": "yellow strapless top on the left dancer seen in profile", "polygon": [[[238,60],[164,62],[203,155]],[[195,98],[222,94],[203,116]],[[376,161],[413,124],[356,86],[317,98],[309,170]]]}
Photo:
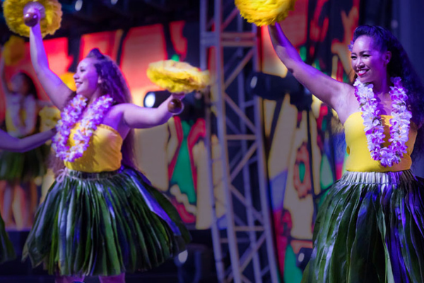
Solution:
{"label": "yellow strapless top on the left dancer seen in profile", "polygon": [[[73,136],[79,124],[71,129],[69,146],[75,145]],[[115,171],[121,167],[122,137],[116,129],[100,124],[90,139],[90,144],[83,156],[73,162],[65,161],[66,168],[88,173]]]}

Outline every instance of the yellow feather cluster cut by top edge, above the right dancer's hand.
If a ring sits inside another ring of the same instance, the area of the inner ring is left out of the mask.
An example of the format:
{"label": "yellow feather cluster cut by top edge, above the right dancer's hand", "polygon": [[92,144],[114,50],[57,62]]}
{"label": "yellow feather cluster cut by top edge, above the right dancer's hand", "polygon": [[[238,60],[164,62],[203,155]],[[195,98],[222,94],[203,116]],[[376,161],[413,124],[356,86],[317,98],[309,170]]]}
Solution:
{"label": "yellow feather cluster cut by top edge, above the right dancer's hand", "polygon": [[295,8],[296,0],[235,0],[240,15],[257,26],[283,21],[288,11]]}

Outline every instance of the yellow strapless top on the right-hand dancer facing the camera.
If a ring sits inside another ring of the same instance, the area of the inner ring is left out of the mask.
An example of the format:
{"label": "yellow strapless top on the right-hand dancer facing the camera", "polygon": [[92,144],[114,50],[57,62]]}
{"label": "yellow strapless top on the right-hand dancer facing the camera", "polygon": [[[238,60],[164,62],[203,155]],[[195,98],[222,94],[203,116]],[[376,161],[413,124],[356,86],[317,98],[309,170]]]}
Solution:
{"label": "yellow strapless top on the right-hand dancer facing the camera", "polygon": [[[346,145],[348,151],[348,158],[346,159],[346,170],[357,171],[357,172],[396,172],[404,171],[411,168],[411,154],[413,151],[413,145],[417,137],[417,127],[411,122],[411,128],[409,129],[409,139],[406,141],[406,154],[401,158],[401,162],[394,164],[391,167],[384,167],[375,161],[368,150],[367,137],[365,136],[365,126],[363,125],[362,112],[354,112],[346,119],[344,123],[344,129],[346,134]],[[382,115],[384,124],[384,144],[383,146],[389,145],[390,136],[390,115]]]}

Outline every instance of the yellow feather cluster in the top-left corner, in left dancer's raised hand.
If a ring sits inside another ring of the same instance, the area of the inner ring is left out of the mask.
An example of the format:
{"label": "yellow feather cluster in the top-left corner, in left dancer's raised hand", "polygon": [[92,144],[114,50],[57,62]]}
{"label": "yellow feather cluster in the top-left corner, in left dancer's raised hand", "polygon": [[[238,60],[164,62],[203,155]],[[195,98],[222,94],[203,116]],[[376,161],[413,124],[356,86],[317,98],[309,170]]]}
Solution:
{"label": "yellow feather cluster in the top-left corner, in left dancer's raised hand", "polygon": [[39,2],[45,7],[46,16],[40,21],[42,36],[54,34],[60,28],[62,16],[61,4],[57,0],[5,0],[3,12],[8,28],[18,35],[30,36],[30,28],[23,22],[23,8],[28,2]]}

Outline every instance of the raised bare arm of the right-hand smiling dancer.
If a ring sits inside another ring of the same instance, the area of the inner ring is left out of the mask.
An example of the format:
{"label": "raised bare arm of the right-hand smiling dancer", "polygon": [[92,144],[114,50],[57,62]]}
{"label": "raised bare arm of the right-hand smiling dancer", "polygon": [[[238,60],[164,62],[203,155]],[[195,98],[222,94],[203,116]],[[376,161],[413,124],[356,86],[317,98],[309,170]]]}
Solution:
{"label": "raised bare arm of the right-hand smiling dancer", "polygon": [[293,47],[278,23],[269,25],[269,35],[278,58],[285,64],[288,71],[314,96],[330,105],[336,112],[341,110],[343,101],[346,101],[346,94],[353,92],[353,86],[336,81],[303,62],[298,50]]}

